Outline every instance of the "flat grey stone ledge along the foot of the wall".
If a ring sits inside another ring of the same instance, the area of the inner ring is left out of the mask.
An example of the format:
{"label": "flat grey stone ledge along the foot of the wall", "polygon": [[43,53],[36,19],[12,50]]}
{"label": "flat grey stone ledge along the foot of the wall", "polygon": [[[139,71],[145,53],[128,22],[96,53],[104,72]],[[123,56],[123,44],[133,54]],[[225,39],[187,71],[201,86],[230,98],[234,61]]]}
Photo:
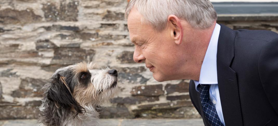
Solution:
{"label": "flat grey stone ledge along the foot of the wall", "polygon": [[[38,126],[37,120],[2,120],[0,126]],[[203,126],[202,119],[100,119],[100,126]]]}

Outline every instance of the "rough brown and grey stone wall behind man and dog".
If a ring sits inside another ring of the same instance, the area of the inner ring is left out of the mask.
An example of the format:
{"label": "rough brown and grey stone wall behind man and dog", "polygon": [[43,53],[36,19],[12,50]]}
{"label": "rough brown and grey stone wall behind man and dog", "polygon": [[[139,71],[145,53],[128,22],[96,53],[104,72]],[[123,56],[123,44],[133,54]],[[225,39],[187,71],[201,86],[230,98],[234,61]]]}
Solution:
{"label": "rough brown and grey stone wall behind man and dog", "polygon": [[[157,82],[134,47],[126,0],[1,0],[0,119],[37,118],[39,90],[53,72],[82,60],[118,70],[120,92],[101,118],[199,118],[189,80]],[[277,32],[277,21],[221,21]]]}

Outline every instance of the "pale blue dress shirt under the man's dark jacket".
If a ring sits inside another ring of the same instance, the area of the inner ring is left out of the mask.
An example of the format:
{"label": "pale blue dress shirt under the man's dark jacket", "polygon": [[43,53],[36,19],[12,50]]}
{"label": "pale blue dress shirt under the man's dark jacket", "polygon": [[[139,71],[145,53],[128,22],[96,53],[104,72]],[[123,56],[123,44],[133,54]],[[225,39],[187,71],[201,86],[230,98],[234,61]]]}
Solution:
{"label": "pale blue dress shirt under the man's dark jacket", "polygon": [[220,102],[219,90],[218,90],[217,66],[216,66],[217,44],[218,44],[219,33],[220,33],[220,25],[216,24],[210,39],[209,46],[207,48],[207,52],[205,54],[205,58],[203,60],[199,81],[194,80],[194,82],[197,91],[198,91],[197,86],[199,84],[210,84],[210,90],[209,90],[210,100],[214,104],[221,122],[225,125],[221,102]]}

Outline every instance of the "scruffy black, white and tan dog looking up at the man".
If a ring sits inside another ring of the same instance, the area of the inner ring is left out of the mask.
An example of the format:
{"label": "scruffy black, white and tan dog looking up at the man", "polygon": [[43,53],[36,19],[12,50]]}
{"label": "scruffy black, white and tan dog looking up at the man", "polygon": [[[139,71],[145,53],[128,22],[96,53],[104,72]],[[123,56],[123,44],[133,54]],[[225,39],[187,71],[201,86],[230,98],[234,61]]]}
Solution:
{"label": "scruffy black, white and tan dog looking up at the man", "polygon": [[42,88],[39,124],[97,126],[99,106],[117,92],[116,70],[98,70],[81,62],[56,70]]}

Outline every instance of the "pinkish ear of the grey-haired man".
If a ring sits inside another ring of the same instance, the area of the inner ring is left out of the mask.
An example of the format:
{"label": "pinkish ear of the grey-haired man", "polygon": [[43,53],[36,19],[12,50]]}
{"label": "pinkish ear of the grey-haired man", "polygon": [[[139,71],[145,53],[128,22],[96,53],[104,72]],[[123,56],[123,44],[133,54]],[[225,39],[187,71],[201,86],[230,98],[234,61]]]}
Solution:
{"label": "pinkish ear of the grey-haired man", "polygon": [[183,28],[180,19],[177,16],[171,14],[167,18],[168,26],[170,28],[171,38],[174,39],[177,45],[182,43],[183,39]]}

